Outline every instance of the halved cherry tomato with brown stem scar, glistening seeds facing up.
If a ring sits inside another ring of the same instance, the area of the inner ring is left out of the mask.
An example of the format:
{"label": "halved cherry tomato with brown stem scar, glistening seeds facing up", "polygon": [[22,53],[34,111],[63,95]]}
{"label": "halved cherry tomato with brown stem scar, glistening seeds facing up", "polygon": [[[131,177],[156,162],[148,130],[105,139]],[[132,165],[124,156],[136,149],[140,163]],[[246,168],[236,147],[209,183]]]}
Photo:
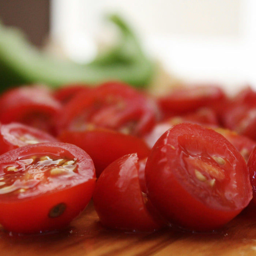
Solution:
{"label": "halved cherry tomato with brown stem scar, glistening seeds facing up", "polygon": [[0,223],[13,233],[61,229],[95,187],[92,159],[67,143],[38,143],[0,155]]}

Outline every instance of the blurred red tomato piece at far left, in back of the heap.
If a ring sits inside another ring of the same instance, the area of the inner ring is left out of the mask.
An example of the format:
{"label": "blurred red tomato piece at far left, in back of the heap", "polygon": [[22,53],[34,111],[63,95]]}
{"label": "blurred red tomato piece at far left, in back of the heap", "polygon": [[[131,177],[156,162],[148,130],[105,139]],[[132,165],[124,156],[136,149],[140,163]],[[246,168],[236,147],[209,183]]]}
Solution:
{"label": "blurred red tomato piece at far left, in back of the heap", "polygon": [[0,121],[19,122],[55,134],[53,118],[61,104],[44,86],[21,86],[5,91],[0,97]]}

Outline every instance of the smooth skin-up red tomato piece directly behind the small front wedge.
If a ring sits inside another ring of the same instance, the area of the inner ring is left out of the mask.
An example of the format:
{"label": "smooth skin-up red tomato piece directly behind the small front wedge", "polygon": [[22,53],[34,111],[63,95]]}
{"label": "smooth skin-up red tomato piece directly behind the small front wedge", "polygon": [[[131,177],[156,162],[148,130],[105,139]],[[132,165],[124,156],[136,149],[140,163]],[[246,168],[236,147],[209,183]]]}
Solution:
{"label": "smooth skin-up red tomato piece directly behind the small front wedge", "polygon": [[143,139],[109,129],[66,130],[58,138],[85,150],[93,159],[97,177],[110,163],[123,155],[137,153],[139,158],[144,158],[150,152]]}

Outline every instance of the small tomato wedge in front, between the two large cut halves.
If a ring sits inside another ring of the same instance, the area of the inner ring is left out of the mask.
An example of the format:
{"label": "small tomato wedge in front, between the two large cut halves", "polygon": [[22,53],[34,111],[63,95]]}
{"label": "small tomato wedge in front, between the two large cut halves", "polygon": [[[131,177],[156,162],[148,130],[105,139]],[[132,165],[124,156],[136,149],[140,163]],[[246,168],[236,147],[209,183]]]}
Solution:
{"label": "small tomato wedge in front, between the two large cut halves", "polygon": [[161,227],[145,206],[138,169],[137,155],[129,154],[111,163],[99,176],[93,202],[104,226],[140,232]]}

